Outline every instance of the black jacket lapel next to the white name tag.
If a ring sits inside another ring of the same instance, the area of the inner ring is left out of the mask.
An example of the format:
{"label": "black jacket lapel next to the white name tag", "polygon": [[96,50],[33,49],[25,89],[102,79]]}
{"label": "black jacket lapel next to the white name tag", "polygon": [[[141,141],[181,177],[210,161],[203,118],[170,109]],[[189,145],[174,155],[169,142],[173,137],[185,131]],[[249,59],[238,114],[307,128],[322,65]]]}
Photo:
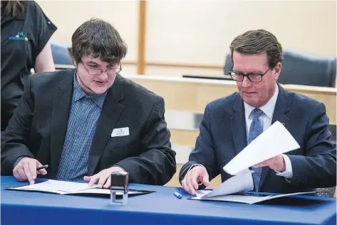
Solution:
{"label": "black jacket lapel next to the white name tag", "polygon": [[102,155],[105,150],[105,146],[111,138],[113,128],[115,128],[115,124],[117,124],[120,114],[124,109],[123,104],[120,104],[123,97],[123,78],[118,75],[106,95],[103,109],[98,119],[90,148],[88,176],[93,175],[93,172],[95,172],[95,168],[100,160],[100,155]]}

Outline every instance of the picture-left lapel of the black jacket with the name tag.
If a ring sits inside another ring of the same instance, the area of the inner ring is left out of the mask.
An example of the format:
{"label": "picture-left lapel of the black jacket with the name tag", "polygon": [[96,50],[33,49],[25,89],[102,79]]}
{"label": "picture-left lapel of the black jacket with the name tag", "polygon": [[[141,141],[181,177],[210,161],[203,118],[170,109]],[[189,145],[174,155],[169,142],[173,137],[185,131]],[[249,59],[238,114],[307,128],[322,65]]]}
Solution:
{"label": "picture-left lapel of the black jacket with the name tag", "polygon": [[74,70],[67,70],[64,74],[60,74],[62,80],[53,95],[53,109],[51,112],[51,177],[56,175],[64,139],[66,138],[73,95],[73,73]]}

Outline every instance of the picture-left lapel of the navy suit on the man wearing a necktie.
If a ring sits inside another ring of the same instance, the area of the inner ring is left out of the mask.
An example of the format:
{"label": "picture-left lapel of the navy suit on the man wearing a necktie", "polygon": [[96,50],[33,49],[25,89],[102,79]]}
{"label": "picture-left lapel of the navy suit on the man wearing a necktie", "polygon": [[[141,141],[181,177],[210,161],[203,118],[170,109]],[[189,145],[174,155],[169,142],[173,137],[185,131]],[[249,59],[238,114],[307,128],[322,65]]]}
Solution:
{"label": "picture-left lapel of the navy suit on the man wearing a necktie", "polygon": [[231,117],[232,137],[237,155],[247,146],[246,119],[244,118],[244,101],[237,95],[233,104],[234,114]]}

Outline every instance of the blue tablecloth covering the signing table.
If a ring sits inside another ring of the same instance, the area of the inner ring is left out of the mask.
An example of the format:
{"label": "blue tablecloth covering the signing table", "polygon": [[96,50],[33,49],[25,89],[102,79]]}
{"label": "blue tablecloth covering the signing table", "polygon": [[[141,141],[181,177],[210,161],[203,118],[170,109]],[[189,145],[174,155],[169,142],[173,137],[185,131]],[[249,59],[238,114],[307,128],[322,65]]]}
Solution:
{"label": "blue tablecloth covering the signing table", "polygon": [[[19,185],[24,183],[1,177],[2,225],[336,224],[336,198],[328,197],[291,197],[290,202],[309,199],[310,204],[250,205],[191,200],[178,187],[130,184],[131,189],[155,193],[129,197],[127,205],[118,206],[110,205],[110,199],[104,197],[4,190]],[[175,191],[182,199],[173,195]]]}

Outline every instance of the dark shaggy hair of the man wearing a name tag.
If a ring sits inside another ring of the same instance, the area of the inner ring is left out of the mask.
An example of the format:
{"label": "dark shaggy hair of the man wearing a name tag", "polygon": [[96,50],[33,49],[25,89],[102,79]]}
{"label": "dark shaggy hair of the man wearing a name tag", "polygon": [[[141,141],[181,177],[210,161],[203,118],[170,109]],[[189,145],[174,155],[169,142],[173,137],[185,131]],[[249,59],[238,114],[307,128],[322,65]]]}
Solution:
{"label": "dark shaggy hair of the man wearing a name tag", "polygon": [[118,63],[128,52],[128,46],[120,38],[118,31],[108,22],[99,18],[85,21],[73,33],[68,53],[81,62],[83,56],[93,55],[103,62]]}

